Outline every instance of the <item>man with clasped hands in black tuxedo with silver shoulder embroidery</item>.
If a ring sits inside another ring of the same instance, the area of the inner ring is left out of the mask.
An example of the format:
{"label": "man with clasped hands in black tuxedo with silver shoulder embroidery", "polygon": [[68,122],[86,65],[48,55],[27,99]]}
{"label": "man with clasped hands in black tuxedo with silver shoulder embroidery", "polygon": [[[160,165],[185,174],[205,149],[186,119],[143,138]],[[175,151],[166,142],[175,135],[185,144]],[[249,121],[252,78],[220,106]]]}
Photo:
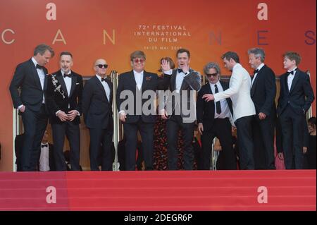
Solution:
{"label": "man with clasped hands in black tuxedo with silver shoulder embroidery", "polygon": [[73,55],[63,51],[60,70],[49,76],[46,102],[53,130],[56,171],[66,171],[63,154],[65,135],[70,144],[70,165],[80,170],[80,115],[82,114],[82,76],[71,71]]}

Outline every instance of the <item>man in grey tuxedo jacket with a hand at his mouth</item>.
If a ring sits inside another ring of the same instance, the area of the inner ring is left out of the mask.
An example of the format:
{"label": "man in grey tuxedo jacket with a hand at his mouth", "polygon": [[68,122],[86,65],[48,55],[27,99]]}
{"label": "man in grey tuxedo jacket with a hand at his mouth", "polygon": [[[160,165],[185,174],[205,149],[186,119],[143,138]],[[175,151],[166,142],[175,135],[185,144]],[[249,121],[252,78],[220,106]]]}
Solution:
{"label": "man in grey tuxedo jacket with a hand at his mouth", "polygon": [[164,89],[170,90],[167,96],[166,109],[160,109],[163,119],[168,119],[166,131],[168,138],[168,169],[178,169],[178,130],[182,129],[184,140],[184,169],[192,170],[194,164],[194,121],[196,121],[196,105],[194,91],[201,88],[201,78],[197,71],[189,68],[190,52],[178,49],[178,68],[170,69],[170,63],[162,61]]}

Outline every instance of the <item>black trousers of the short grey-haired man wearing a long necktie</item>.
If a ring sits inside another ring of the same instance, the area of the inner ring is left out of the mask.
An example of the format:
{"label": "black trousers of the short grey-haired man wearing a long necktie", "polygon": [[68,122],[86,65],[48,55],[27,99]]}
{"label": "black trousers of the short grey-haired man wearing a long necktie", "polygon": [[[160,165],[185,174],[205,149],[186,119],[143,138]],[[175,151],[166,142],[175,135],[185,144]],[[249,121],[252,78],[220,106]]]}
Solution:
{"label": "black trousers of the short grey-haired man wearing a long necktie", "polygon": [[212,128],[210,130],[204,130],[201,135],[204,169],[210,169],[211,147],[213,138],[216,137],[219,139],[222,149],[220,158],[223,158],[223,169],[237,169],[235,152],[233,151],[232,146],[231,123],[229,118],[215,118]]}

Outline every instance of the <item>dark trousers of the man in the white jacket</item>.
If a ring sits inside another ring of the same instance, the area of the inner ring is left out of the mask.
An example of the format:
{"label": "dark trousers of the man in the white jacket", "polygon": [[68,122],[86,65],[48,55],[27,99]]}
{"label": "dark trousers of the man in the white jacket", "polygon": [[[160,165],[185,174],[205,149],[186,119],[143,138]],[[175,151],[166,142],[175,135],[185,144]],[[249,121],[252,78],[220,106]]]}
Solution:
{"label": "dark trousers of the man in the white jacket", "polygon": [[244,116],[235,121],[240,150],[240,169],[255,169],[254,145],[252,140],[252,120],[254,116]]}

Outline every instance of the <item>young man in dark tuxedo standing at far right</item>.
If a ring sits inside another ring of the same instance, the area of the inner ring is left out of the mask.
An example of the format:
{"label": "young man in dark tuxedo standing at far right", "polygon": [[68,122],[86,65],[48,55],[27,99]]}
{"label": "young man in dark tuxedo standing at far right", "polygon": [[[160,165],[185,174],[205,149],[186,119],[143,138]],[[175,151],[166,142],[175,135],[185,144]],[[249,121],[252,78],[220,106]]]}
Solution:
{"label": "young man in dark tuxedo standing at far right", "polygon": [[280,76],[278,116],[282,130],[285,169],[303,169],[305,114],[315,99],[309,75],[297,68],[300,61],[299,54],[287,51],[284,54],[284,68],[287,73]]}

